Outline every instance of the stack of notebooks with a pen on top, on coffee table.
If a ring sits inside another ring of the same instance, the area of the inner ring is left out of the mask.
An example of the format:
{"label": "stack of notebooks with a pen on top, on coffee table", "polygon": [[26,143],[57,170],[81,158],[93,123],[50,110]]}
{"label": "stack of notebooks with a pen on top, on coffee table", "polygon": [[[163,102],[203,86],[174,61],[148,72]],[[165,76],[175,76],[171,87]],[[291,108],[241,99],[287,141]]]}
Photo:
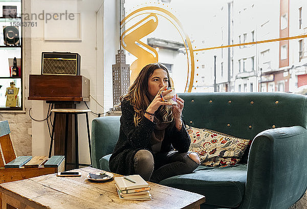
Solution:
{"label": "stack of notebooks with a pen on top, on coffee table", "polygon": [[120,199],[151,200],[150,187],[140,175],[115,177],[114,180]]}

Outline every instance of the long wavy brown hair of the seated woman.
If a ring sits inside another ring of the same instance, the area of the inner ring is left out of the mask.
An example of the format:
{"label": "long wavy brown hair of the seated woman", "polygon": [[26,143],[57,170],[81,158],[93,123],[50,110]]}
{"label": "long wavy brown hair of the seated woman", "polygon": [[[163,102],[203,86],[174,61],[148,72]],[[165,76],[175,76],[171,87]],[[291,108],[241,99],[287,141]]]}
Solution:
{"label": "long wavy brown hair of the seated woman", "polygon": [[[139,122],[141,121],[144,111],[150,104],[150,100],[148,97],[148,79],[153,74],[155,69],[164,69],[167,73],[168,78],[168,87],[172,87],[172,79],[169,76],[167,67],[161,63],[151,63],[147,64],[141,72],[139,73],[138,77],[134,81],[134,83],[129,87],[128,93],[126,95],[122,95],[120,97],[120,101],[129,101],[130,105],[133,106],[135,110],[134,115],[134,124],[138,126]],[[166,121],[173,121],[173,116],[171,114],[171,108],[166,107],[165,105],[159,107],[159,115],[160,119],[164,122]]]}

